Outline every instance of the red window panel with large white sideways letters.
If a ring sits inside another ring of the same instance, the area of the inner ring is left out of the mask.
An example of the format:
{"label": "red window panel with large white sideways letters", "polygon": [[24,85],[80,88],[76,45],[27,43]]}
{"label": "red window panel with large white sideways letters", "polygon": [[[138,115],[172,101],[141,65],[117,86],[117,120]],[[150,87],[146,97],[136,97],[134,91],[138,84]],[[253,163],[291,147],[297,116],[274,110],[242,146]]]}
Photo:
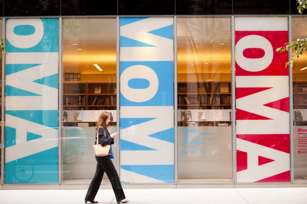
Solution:
{"label": "red window panel with large white sideways letters", "polygon": [[235,17],[236,182],[290,182],[287,17]]}

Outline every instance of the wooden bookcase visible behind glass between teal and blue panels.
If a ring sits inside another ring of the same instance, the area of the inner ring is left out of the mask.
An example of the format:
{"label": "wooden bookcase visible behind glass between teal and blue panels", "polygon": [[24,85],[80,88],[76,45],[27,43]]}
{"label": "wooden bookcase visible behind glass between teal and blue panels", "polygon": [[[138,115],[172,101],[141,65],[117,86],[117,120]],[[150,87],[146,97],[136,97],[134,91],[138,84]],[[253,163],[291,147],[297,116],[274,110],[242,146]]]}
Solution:
{"label": "wooden bookcase visible behind glass between teal and blue panels", "polygon": [[63,110],[115,109],[115,82],[63,82]]}

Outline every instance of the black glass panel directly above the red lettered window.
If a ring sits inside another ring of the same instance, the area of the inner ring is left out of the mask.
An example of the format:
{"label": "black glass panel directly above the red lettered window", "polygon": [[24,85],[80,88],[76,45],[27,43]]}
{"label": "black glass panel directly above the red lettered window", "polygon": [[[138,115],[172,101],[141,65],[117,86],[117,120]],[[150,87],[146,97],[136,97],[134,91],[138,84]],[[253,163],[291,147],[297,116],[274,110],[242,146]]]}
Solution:
{"label": "black glass panel directly above the red lettered window", "polygon": [[233,14],[289,14],[289,0],[233,0]]}

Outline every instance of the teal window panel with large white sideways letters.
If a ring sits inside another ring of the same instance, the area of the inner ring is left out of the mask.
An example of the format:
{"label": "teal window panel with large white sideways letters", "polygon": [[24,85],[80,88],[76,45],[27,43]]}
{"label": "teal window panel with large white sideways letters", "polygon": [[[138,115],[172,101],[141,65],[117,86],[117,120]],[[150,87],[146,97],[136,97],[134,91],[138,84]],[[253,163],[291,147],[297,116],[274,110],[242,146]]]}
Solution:
{"label": "teal window panel with large white sideways letters", "polygon": [[59,178],[59,19],[6,19],[5,184]]}

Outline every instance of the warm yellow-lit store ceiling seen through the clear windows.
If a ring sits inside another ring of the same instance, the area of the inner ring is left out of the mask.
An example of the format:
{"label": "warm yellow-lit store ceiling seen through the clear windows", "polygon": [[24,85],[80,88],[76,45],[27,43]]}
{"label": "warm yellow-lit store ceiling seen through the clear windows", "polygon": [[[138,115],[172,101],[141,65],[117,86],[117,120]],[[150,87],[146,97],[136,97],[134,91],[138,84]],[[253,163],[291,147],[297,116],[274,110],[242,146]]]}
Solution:
{"label": "warm yellow-lit store ceiling seen through the clear windows", "polygon": [[[231,73],[229,18],[177,18],[177,73]],[[97,20],[102,25],[97,29]],[[63,21],[62,68],[64,73],[116,73],[116,19]],[[216,29],[216,27],[220,29]],[[294,27],[292,39],[304,38],[307,27]],[[77,37],[76,37],[77,36]],[[191,38],[191,36],[197,36]],[[94,64],[99,65],[103,72]],[[307,73],[307,54],[294,61],[293,73]]]}

